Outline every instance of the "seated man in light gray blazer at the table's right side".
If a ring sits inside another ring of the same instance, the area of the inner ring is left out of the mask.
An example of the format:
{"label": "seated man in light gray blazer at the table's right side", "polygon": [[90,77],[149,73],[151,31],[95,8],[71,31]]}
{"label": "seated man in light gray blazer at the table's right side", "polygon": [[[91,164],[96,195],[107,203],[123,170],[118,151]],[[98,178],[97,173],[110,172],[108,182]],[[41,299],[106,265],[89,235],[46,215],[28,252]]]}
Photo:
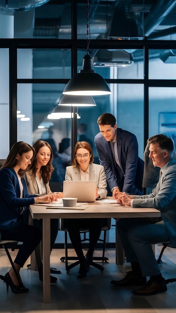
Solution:
{"label": "seated man in light gray blazer at the table's right side", "polygon": [[[170,241],[176,247],[176,161],[173,159],[173,141],[158,134],[149,140],[149,157],[160,167],[159,181],[150,194],[128,195],[120,192],[117,201],[131,207],[155,207],[157,218],[121,218],[117,230],[131,271],[121,280],[112,280],[116,286],[144,285],[132,291],[137,295],[150,295],[167,290],[165,279],[152,251],[151,244]],[[146,282],[146,276],[150,276]]]}

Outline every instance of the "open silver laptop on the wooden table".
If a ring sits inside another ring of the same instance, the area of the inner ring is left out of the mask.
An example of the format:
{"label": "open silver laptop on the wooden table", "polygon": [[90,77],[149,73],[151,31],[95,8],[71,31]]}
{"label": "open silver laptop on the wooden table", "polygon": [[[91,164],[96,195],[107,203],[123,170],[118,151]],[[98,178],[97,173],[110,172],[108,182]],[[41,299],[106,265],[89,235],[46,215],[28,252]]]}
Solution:
{"label": "open silver laptop on the wooden table", "polygon": [[77,198],[77,202],[94,202],[96,181],[63,180],[63,197]]}

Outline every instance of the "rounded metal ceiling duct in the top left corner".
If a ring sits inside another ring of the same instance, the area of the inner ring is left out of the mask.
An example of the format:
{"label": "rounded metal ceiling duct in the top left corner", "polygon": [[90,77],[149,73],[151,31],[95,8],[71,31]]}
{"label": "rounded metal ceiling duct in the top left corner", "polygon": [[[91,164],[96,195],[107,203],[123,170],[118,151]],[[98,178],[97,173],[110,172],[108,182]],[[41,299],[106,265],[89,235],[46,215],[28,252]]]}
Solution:
{"label": "rounded metal ceiling duct in the top left corner", "polygon": [[27,11],[43,5],[49,0],[0,0],[0,12]]}

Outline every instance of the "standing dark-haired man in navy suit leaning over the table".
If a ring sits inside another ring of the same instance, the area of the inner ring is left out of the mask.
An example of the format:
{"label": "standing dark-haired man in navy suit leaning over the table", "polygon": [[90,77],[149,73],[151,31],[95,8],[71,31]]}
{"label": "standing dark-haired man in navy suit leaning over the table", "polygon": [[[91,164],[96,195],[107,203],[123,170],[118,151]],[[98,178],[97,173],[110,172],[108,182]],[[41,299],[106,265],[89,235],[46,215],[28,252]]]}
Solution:
{"label": "standing dark-haired man in navy suit leaning over the table", "polygon": [[119,191],[142,194],[143,160],[138,157],[136,136],[117,128],[116,119],[103,113],[97,119],[100,132],[94,137],[99,162],[104,166],[112,196]]}

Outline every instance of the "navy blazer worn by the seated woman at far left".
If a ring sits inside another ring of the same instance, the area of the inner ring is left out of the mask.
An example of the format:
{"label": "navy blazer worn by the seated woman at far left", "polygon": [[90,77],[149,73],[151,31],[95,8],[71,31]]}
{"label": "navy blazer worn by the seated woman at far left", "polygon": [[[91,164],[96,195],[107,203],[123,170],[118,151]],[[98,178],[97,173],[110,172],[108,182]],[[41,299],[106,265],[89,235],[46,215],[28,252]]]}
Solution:
{"label": "navy blazer worn by the seated woman at far left", "polygon": [[17,220],[20,207],[34,203],[34,196],[37,195],[29,195],[24,178],[21,178],[21,182],[23,198],[20,198],[19,181],[14,169],[0,169],[0,230]]}

